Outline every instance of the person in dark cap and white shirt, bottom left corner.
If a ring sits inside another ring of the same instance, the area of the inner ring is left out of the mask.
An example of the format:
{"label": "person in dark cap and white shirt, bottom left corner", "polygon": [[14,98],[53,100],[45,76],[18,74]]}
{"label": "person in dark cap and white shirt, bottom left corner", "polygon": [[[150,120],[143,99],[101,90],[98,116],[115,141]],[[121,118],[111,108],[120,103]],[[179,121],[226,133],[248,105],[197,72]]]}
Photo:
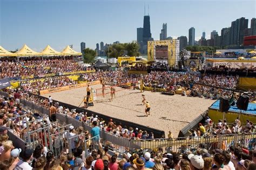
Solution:
{"label": "person in dark cap and white shirt, bottom left corner", "polygon": [[32,166],[29,165],[33,156],[32,149],[25,149],[23,153],[23,160],[18,161],[17,165],[15,166],[14,170],[26,169],[31,170]]}

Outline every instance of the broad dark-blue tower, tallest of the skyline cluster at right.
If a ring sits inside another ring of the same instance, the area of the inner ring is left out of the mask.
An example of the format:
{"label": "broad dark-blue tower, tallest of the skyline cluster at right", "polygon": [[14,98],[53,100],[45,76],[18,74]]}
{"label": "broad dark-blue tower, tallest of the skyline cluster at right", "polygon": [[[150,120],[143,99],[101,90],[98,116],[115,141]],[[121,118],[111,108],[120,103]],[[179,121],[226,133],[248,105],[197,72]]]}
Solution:
{"label": "broad dark-blue tower, tallest of the skyline cluster at right", "polygon": [[231,23],[231,45],[240,45],[244,42],[244,32],[248,28],[248,19],[239,18]]}

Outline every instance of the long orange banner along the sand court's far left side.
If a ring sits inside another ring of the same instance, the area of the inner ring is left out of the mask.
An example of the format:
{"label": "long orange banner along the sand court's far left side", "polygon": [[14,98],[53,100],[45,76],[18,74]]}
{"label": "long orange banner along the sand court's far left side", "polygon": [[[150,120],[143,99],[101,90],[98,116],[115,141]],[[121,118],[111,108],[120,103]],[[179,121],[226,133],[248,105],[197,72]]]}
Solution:
{"label": "long orange banner along the sand court's far left side", "polygon": [[53,89],[41,90],[41,91],[39,91],[39,93],[40,94],[47,94],[47,93],[70,90],[70,89],[75,89],[75,88],[78,88],[78,87],[85,87],[87,85],[95,85],[95,84],[100,84],[100,81],[97,80],[97,81],[90,81],[90,82],[87,82],[87,83],[74,84],[74,85],[70,85],[70,86],[56,87],[56,88],[53,88]]}

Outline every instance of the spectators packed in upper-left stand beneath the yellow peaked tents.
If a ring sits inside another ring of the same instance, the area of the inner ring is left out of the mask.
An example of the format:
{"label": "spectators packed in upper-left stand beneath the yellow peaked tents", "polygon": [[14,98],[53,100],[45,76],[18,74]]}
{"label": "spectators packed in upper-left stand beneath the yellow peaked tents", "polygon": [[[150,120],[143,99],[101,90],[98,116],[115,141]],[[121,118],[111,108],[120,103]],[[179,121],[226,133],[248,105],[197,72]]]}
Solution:
{"label": "spectators packed in upper-left stand beneath the yellow peaked tents", "polygon": [[12,78],[21,76],[40,76],[50,73],[64,73],[81,71],[83,67],[79,66],[72,57],[53,58],[53,59],[20,59],[0,60],[0,78]]}

